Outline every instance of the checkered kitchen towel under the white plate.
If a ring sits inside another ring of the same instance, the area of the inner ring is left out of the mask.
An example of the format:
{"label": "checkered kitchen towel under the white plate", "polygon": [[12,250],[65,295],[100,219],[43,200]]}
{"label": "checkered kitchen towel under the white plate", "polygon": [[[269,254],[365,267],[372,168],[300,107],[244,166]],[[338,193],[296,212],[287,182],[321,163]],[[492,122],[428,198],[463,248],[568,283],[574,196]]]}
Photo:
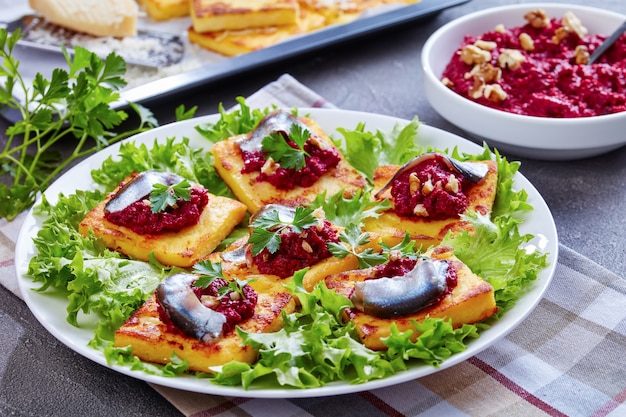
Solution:
{"label": "checkered kitchen towel under the white plate", "polygon": [[[253,107],[333,107],[289,75]],[[19,295],[20,220],[0,221],[0,281]],[[555,276],[530,316],[480,354],[427,377],[336,397],[254,399],[153,386],[185,416],[626,416],[626,280],[559,248]]]}

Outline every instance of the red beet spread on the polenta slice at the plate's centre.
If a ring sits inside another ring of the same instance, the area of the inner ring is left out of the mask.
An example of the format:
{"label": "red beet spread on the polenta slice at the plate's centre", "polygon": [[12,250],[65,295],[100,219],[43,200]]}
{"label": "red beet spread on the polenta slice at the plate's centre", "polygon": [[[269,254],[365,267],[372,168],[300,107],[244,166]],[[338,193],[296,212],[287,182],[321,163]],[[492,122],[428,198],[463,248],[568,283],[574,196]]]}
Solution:
{"label": "red beet spread on the polenta slice at the plate's centre", "polygon": [[283,232],[280,239],[278,251],[270,253],[263,249],[253,257],[262,274],[290,277],[302,268],[329,258],[331,253],[326,247],[326,242],[339,242],[337,230],[326,220],[321,229],[310,227],[302,233]]}

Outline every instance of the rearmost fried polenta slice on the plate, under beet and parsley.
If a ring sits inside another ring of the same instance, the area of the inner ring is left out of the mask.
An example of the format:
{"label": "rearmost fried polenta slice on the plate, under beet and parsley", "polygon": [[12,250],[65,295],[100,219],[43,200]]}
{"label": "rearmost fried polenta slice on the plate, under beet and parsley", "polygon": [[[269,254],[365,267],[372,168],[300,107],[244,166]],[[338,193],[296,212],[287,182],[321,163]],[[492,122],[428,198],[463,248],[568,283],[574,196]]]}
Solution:
{"label": "rearmost fried polenta slice on the plate, under beet and parsley", "polygon": [[[299,118],[308,126],[311,132],[318,136],[319,141],[326,147],[336,146],[326,133],[313,120]],[[282,204],[285,206],[304,205],[313,201],[318,194],[326,191],[327,195],[334,195],[343,191],[344,195],[351,196],[365,186],[365,179],[354,169],[343,156],[339,164],[322,175],[310,187],[295,187],[291,190],[281,190],[269,182],[257,181],[258,172],[242,173],[244,162],[237,140],[245,135],[234,136],[216,143],[211,148],[214,156],[215,170],[230,187],[239,201],[248,206],[248,211],[254,213],[268,204]]]}

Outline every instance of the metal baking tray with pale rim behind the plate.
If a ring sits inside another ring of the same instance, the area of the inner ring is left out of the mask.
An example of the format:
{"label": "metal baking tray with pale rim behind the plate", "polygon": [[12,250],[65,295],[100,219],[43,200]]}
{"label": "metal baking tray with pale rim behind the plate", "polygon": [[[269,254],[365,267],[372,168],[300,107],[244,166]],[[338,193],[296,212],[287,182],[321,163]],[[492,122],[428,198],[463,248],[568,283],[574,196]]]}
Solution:
{"label": "metal baking tray with pale rim behind the plate", "polygon": [[[233,75],[242,74],[246,71],[286,60],[288,58],[321,49],[333,44],[354,39],[372,32],[390,28],[394,25],[407,23],[413,20],[425,19],[441,11],[454,7],[470,0],[422,0],[419,3],[390,8],[388,11],[368,14],[351,23],[330,26],[306,35],[294,37],[279,44],[258,51],[239,55],[236,57],[222,57],[207,60],[194,69],[182,70],[173,75],[166,75],[145,83],[129,83],[129,86],[120,92],[120,100],[113,103],[112,107],[125,107],[128,102],[149,103],[162,100],[170,94],[181,93],[194,89],[200,85],[210,84]],[[185,22],[183,20],[183,22]],[[180,24],[180,21],[178,23]],[[188,23],[185,22],[186,25]],[[155,30],[159,30],[158,27]],[[195,46],[195,45],[194,45]],[[52,52],[46,55],[45,51],[16,48],[15,55],[21,62],[20,71],[25,79],[34,79],[36,72],[42,72],[49,76],[55,67],[66,65],[60,54]],[[217,55],[215,55],[217,56]],[[32,72],[32,73],[31,73]],[[132,77],[127,73],[128,77]],[[9,121],[15,121],[19,114],[12,109],[2,108],[0,114]]]}

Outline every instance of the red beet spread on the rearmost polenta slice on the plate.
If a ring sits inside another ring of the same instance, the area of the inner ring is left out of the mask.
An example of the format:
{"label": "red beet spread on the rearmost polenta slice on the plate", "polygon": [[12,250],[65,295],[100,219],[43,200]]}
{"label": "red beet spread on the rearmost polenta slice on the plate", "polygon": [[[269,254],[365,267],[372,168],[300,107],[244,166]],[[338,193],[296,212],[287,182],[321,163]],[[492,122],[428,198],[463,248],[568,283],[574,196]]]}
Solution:
{"label": "red beet spread on the rearmost polenta slice on the plate", "polygon": [[[296,148],[296,144],[287,140],[290,146]],[[320,149],[318,146],[307,141],[304,150],[309,154],[305,158],[306,165],[302,169],[285,169],[279,167],[275,172],[266,174],[259,173],[257,181],[267,181],[281,190],[290,190],[297,186],[310,187],[325,173],[336,167],[339,163],[339,152],[335,148],[327,147]],[[267,161],[265,152],[242,151],[244,168],[242,173],[260,171]]]}

